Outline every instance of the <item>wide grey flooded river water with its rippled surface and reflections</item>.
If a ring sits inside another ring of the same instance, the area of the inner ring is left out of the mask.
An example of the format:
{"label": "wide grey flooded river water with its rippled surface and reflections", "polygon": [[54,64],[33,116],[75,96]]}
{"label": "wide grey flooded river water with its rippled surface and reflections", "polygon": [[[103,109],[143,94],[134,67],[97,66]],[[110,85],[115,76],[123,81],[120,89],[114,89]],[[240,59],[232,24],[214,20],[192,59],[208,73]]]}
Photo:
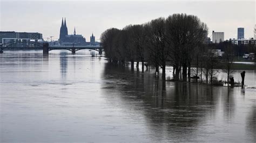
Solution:
{"label": "wide grey flooded river water with its rippled surface and reflections", "polygon": [[[0,142],[256,141],[256,89],[162,82],[153,73],[86,51],[4,51]],[[246,71],[245,84],[255,77]]]}

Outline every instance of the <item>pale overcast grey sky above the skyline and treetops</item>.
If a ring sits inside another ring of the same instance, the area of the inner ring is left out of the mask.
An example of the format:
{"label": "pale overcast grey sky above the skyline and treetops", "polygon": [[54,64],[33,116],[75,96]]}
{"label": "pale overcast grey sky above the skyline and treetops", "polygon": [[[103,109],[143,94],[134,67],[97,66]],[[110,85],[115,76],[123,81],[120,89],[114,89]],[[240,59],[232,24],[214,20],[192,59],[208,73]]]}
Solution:
{"label": "pale overcast grey sky above the skyline and treetops", "polygon": [[[59,38],[62,17],[69,34],[100,38],[107,28],[122,29],[143,24],[173,13],[196,15],[212,31],[225,32],[225,39],[237,38],[237,28],[245,28],[245,38],[253,37],[255,1],[12,1],[0,0],[0,31],[39,32],[43,38]],[[211,37],[212,38],[212,37]],[[98,40],[99,41],[99,40]]]}

